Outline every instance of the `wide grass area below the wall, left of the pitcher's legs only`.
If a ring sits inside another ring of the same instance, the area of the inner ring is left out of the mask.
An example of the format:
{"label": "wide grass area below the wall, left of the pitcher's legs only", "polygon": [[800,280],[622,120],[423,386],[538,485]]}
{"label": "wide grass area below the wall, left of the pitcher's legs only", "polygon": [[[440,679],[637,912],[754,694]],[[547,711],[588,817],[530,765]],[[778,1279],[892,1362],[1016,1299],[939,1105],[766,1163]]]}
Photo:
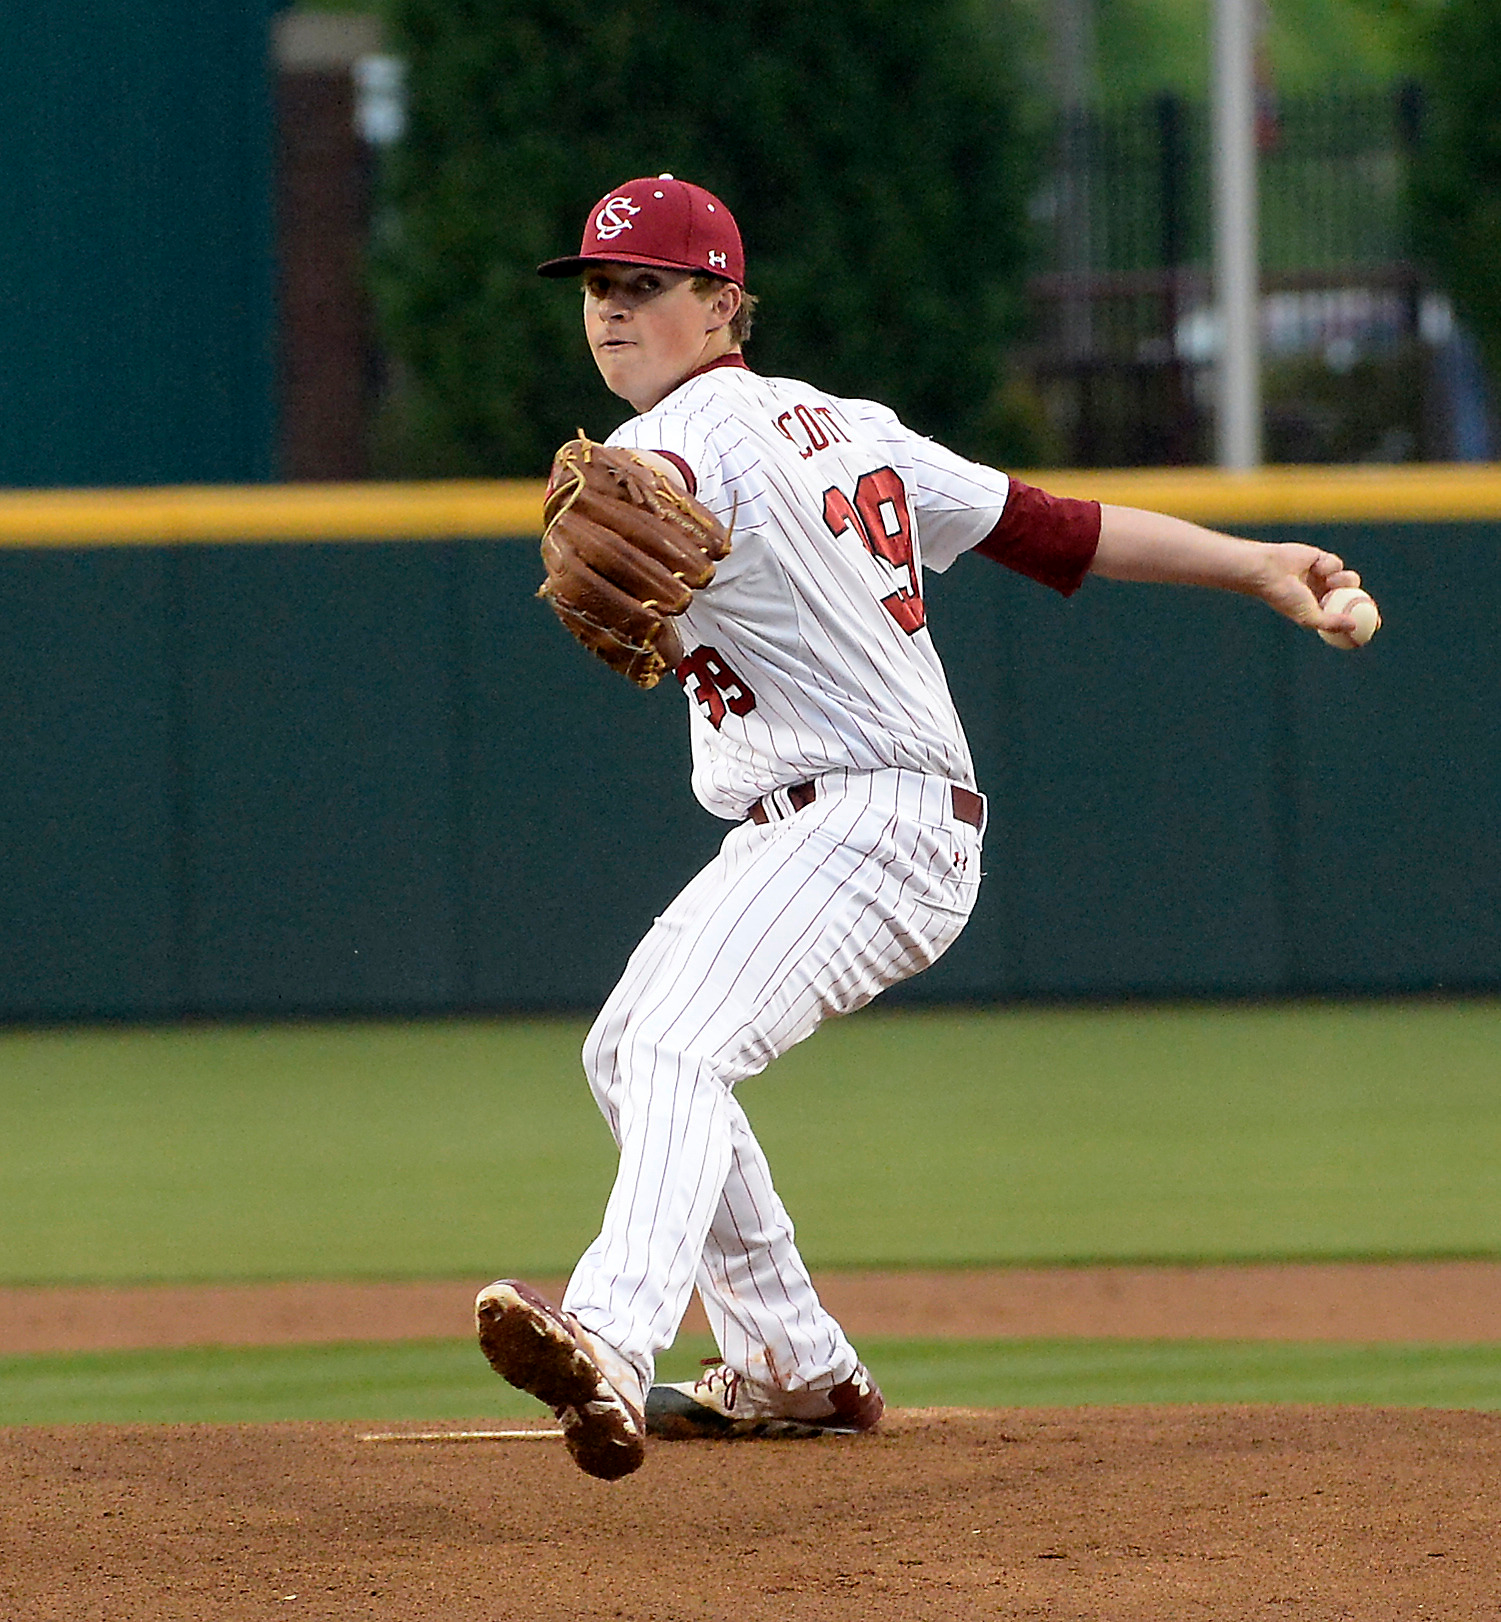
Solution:
{"label": "wide grass area below the wall, left of the pitcher's legs only", "polygon": [[581,1040],[578,1022],[0,1035],[0,1281],[566,1272],[613,1161]]}

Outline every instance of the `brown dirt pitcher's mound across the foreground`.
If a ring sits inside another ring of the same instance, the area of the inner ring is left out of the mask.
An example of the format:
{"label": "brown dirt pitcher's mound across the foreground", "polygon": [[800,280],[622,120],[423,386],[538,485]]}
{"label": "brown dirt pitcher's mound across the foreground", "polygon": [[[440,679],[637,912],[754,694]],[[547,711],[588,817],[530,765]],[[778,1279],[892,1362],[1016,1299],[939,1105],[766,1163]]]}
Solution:
{"label": "brown dirt pitcher's mound across the foreground", "polygon": [[657,1444],[615,1484],[555,1440],[360,1434],[0,1431],[0,1616],[1412,1622],[1501,1593],[1495,1414],[907,1410]]}

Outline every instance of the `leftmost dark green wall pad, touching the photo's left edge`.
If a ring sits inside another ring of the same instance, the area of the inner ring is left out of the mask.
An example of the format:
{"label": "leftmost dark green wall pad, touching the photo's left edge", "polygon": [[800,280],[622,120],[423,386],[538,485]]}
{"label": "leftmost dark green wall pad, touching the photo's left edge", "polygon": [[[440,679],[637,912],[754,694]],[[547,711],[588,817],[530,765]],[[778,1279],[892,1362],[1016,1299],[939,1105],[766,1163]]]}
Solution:
{"label": "leftmost dark green wall pad, touching the photo's left edge", "polygon": [[0,1011],[183,1004],[164,551],[0,553]]}

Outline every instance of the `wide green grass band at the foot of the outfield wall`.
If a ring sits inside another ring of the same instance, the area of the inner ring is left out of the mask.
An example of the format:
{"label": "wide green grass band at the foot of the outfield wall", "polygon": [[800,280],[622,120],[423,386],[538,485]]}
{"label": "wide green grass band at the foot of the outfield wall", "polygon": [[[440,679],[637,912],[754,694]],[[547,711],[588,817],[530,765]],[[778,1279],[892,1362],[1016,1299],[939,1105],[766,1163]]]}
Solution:
{"label": "wide green grass band at the foot of the outfield wall", "polygon": [[[0,1035],[0,1281],[561,1273],[574,1020]],[[1501,1001],[878,1012],[740,1092],[816,1267],[1501,1254]]]}

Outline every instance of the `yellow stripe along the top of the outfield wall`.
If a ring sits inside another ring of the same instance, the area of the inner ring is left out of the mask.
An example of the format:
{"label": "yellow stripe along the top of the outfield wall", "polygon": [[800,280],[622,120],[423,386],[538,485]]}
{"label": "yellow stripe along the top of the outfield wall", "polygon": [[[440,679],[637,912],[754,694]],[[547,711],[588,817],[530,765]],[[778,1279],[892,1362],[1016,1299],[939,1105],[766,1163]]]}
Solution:
{"label": "yellow stripe along the top of the outfield wall", "polygon": [[[1501,519],[1501,464],[1209,467],[1021,474],[1058,495],[1176,513],[1201,524],[1394,524]],[[0,547],[534,537],[540,480],[213,485],[0,493]]]}

